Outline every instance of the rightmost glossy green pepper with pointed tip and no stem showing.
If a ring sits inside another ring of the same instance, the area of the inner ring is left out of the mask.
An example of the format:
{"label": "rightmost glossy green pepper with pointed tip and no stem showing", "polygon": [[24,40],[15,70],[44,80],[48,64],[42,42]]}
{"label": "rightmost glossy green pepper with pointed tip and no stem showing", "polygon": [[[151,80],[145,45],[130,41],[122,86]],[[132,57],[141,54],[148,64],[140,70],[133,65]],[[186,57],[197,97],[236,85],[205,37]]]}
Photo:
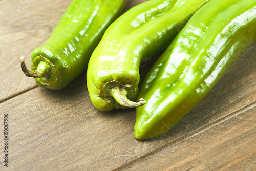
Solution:
{"label": "rightmost glossy green pepper with pointed tip and no stem showing", "polygon": [[203,99],[256,40],[255,0],[211,0],[154,63],[138,98],[134,136],[162,135]]}

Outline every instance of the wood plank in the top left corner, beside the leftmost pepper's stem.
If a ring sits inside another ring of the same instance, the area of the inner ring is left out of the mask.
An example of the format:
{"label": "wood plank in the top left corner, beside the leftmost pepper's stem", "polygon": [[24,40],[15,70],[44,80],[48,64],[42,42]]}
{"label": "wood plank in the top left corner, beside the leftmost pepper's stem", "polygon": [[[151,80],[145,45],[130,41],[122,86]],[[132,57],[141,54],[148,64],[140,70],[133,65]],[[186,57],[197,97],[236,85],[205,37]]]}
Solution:
{"label": "wood plank in the top left corner, beside the leftmost pepper's stem", "polygon": [[32,50],[44,44],[70,4],[67,1],[0,1],[0,100],[35,84],[20,70]]}

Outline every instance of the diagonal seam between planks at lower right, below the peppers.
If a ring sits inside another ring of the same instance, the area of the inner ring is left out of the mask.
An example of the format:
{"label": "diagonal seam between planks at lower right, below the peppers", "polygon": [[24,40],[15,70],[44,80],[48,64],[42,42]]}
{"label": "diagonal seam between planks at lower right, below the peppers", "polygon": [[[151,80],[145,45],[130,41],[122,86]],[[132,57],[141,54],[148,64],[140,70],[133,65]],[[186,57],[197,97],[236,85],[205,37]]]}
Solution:
{"label": "diagonal seam between planks at lower right, below the peppers", "polygon": [[124,165],[122,165],[122,166],[120,166],[120,167],[118,167],[116,169],[113,169],[112,171],[123,170],[123,169],[125,169],[125,168],[127,168],[127,167],[129,167],[129,166],[131,166],[133,164],[135,164],[136,162],[146,160],[148,157],[150,157],[150,156],[152,156],[152,155],[162,151],[164,148],[171,147],[171,146],[176,146],[176,145],[180,144],[181,142],[183,142],[183,141],[185,141],[187,139],[193,138],[193,137],[195,137],[195,136],[197,136],[197,135],[199,135],[199,134],[201,134],[201,133],[211,129],[212,127],[217,126],[220,123],[223,123],[223,122],[225,122],[225,121],[227,121],[227,120],[229,120],[229,119],[231,119],[233,117],[236,117],[236,116],[244,113],[245,111],[248,111],[248,110],[254,108],[255,106],[256,106],[256,100],[253,101],[252,103],[244,106],[243,108],[238,109],[237,111],[234,111],[234,112],[232,112],[232,113],[230,113],[228,115],[225,115],[225,116],[223,116],[223,117],[221,117],[221,118],[219,118],[219,119],[217,119],[215,121],[212,121],[212,122],[210,122],[210,123],[208,123],[206,125],[203,125],[203,126],[199,127],[195,131],[190,132],[190,133],[188,133],[188,134],[186,134],[186,135],[184,135],[184,136],[174,140],[173,142],[170,142],[169,144],[161,146],[161,147],[155,149],[154,151],[146,153],[145,155],[139,156],[136,159],[134,159],[134,160],[132,160],[132,161],[130,161],[128,163],[125,163]]}

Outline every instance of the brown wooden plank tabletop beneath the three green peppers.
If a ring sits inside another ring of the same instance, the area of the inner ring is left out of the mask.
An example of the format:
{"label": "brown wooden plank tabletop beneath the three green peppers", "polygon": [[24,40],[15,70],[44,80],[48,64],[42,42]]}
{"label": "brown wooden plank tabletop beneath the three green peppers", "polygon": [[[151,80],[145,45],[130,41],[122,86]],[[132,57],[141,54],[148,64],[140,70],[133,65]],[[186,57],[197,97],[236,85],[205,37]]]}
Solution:
{"label": "brown wooden plank tabletop beneath the three green peppers", "polygon": [[[134,109],[101,112],[86,72],[68,87],[36,86],[20,70],[44,45],[71,0],[0,1],[0,170],[255,170],[256,44],[210,93],[166,134],[133,137]],[[130,0],[124,11],[143,2]],[[155,58],[157,58],[156,55]],[[143,80],[154,59],[141,70]],[[7,170],[7,169],[6,169]]]}

